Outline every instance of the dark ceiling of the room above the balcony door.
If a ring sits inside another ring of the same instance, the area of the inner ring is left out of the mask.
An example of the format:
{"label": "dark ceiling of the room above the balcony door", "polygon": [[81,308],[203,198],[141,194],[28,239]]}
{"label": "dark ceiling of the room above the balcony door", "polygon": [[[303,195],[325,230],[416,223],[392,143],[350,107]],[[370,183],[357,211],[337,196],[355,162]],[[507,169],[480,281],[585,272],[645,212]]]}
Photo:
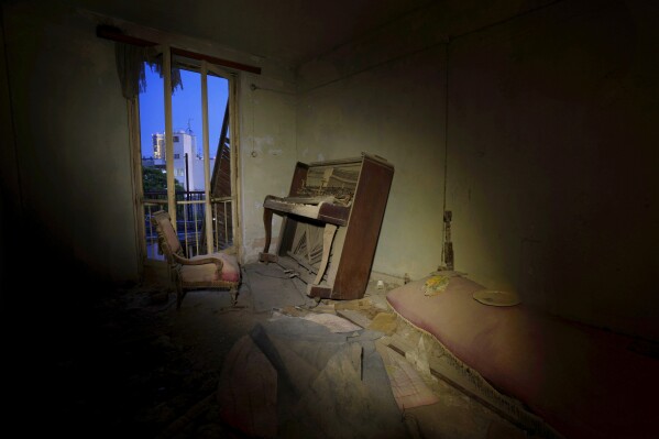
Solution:
{"label": "dark ceiling of the room above the balcony door", "polygon": [[298,66],[433,0],[68,0],[160,31]]}

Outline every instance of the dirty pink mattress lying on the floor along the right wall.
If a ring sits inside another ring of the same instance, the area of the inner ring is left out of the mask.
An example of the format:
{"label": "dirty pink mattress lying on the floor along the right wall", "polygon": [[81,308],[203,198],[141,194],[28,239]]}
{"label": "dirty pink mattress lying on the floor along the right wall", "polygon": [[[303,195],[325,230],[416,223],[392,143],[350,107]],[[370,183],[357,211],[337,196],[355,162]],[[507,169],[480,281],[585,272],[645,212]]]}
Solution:
{"label": "dirty pink mattress lying on the floor along the right wall", "polygon": [[483,305],[464,277],[428,297],[427,278],[387,294],[392,308],[431,333],[502,394],[567,438],[658,438],[659,361],[627,337],[512,307]]}

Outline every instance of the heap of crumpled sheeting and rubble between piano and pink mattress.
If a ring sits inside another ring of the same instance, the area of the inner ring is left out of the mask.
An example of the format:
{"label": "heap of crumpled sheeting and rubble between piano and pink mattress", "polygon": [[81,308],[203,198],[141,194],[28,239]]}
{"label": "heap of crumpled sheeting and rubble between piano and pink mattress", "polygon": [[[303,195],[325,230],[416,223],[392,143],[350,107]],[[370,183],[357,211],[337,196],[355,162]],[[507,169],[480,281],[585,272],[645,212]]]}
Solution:
{"label": "heap of crumpled sheeting and rubble between piano and pink mattress", "polygon": [[[224,421],[264,438],[526,437],[438,378],[431,345],[383,307],[387,289],[375,284],[362,299],[273,308],[224,363]],[[380,383],[376,398],[372,382]]]}

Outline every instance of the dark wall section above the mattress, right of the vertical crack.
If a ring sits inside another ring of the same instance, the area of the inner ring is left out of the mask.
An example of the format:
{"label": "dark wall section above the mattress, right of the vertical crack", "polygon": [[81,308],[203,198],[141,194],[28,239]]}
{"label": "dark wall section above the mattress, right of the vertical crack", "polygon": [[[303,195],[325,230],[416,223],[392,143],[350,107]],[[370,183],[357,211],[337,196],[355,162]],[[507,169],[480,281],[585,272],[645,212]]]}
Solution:
{"label": "dark wall section above the mattress, right of the vertical crack", "polygon": [[454,41],[447,200],[460,270],[655,338],[658,12],[565,1]]}

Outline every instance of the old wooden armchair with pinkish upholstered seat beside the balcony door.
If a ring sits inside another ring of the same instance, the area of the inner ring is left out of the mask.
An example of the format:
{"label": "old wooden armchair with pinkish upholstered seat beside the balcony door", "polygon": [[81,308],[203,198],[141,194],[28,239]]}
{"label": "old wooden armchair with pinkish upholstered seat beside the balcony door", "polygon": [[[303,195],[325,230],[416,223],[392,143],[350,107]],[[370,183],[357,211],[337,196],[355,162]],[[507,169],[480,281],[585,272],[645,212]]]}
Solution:
{"label": "old wooden armchair with pinkish upholstered seat beside the balcony door", "polygon": [[231,292],[232,303],[238,299],[240,266],[234,255],[216,252],[186,257],[180,241],[172,226],[169,213],[158,210],[151,216],[158,237],[158,246],[165,255],[176,284],[176,309],[180,309],[187,290],[221,288]]}

